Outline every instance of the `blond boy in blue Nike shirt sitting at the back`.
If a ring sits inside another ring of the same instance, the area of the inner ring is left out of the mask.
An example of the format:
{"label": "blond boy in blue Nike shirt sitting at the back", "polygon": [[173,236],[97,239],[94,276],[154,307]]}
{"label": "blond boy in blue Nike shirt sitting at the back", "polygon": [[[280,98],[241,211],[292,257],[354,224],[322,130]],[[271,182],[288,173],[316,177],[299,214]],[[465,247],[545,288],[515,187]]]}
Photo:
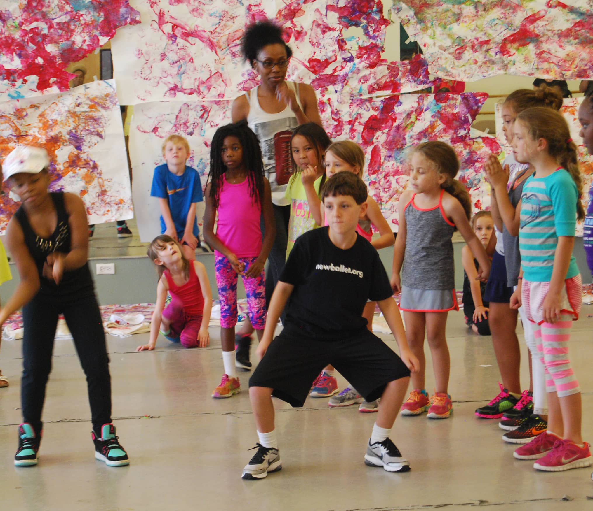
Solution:
{"label": "blond boy in blue Nike shirt sitting at the back", "polygon": [[158,197],[161,208],[161,234],[178,240],[186,259],[196,258],[199,229],[196,205],[202,202],[202,182],[196,169],[186,165],[189,144],[178,135],[162,143],[163,165],[154,169],[151,197]]}

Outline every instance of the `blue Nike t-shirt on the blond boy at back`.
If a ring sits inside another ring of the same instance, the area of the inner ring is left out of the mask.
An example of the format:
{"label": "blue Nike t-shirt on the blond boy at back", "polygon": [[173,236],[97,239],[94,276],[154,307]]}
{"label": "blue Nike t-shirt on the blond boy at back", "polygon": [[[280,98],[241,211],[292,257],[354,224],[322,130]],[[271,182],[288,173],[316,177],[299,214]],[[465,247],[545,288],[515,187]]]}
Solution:
{"label": "blue Nike t-shirt on the blond boy at back", "polygon": [[[185,171],[180,176],[169,172],[167,163],[154,169],[152,176],[151,197],[168,199],[171,217],[180,238],[185,231],[187,213],[193,203],[200,203],[202,197],[202,182],[196,169],[186,165]],[[161,234],[167,230],[161,215]],[[197,218],[193,221],[193,235],[197,237]]]}

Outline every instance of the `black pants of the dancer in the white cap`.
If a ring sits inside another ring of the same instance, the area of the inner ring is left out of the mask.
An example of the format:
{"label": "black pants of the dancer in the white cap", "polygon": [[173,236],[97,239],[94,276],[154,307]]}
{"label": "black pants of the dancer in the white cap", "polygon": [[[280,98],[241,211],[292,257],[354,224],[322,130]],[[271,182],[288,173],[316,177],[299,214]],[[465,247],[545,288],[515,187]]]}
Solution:
{"label": "black pants of the dancer in the white cap", "polygon": [[23,419],[37,433],[41,431],[45,387],[52,371],[53,340],[60,313],[72,333],[87,376],[93,429],[100,434],[101,426],[111,422],[111,377],[103,322],[93,291],[68,300],[52,300],[38,294],[23,307]]}

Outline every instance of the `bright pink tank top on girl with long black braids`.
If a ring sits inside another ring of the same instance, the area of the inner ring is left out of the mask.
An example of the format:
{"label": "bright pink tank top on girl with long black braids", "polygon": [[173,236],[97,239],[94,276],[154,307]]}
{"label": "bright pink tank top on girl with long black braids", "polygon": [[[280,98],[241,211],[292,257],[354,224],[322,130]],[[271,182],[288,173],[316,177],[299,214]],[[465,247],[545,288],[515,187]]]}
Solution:
{"label": "bright pink tank top on girl with long black braids", "polygon": [[262,207],[249,192],[249,179],[231,184],[222,176],[216,236],[238,258],[257,257],[262,250]]}

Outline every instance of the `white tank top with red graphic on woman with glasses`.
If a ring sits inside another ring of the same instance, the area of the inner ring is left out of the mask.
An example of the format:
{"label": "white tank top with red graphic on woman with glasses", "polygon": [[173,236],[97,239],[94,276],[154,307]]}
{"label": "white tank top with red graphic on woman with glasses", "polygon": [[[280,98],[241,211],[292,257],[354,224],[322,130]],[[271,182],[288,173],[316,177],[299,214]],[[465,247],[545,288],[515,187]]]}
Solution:
{"label": "white tank top with red graphic on woman with glasses", "polygon": [[[286,85],[297,95],[297,103],[302,109],[297,84],[286,82]],[[247,124],[256,134],[262,147],[264,171],[272,188],[272,203],[286,206],[290,204],[285,195],[292,173],[291,137],[292,130],[298,126],[297,116],[288,105],[277,114],[264,112],[257,98],[258,87],[245,93],[249,101]]]}

